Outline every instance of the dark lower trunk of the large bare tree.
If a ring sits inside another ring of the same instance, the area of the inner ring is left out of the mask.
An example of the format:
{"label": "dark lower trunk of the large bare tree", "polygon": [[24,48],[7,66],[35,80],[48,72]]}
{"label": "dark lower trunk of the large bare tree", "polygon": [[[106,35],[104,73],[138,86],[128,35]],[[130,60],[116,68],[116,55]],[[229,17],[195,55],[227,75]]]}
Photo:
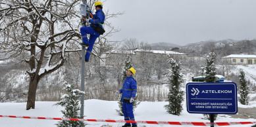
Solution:
{"label": "dark lower trunk of the large bare tree", "polygon": [[36,101],[36,89],[38,88],[38,79],[30,79],[30,86],[28,88],[28,101],[26,110],[35,109],[35,101]]}

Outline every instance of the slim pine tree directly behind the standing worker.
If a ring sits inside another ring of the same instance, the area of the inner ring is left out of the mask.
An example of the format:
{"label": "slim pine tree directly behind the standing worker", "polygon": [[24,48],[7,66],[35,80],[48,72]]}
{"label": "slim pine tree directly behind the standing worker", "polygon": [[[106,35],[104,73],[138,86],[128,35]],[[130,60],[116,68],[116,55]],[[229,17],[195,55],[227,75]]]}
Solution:
{"label": "slim pine tree directly behind the standing worker", "polygon": [[[124,66],[124,70],[122,71],[123,75],[122,75],[122,82],[124,82],[124,80],[126,79],[126,71],[127,69],[130,69],[132,67],[132,58],[130,57],[130,55],[128,54],[126,59],[125,59],[125,66]],[[135,108],[140,104],[140,102],[138,102],[137,100],[138,96],[136,96],[136,98],[134,98],[134,103],[132,103],[133,105],[133,111],[135,110]],[[122,100],[121,98],[118,98],[118,107],[119,109],[116,109],[116,112],[118,113],[118,115],[120,116],[124,116],[123,113],[123,109],[122,109]]]}

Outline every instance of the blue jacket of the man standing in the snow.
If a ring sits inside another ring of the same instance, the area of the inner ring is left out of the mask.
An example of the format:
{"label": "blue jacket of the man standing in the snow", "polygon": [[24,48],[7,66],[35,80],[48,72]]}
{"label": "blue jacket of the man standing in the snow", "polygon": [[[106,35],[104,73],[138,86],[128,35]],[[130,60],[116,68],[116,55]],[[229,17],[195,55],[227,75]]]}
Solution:
{"label": "blue jacket of the man standing in the snow", "polygon": [[124,80],[124,84],[122,85],[122,89],[120,89],[120,92],[122,93],[122,102],[124,100],[130,101],[132,97],[135,98],[136,92],[137,92],[137,82],[130,77],[126,77]]}

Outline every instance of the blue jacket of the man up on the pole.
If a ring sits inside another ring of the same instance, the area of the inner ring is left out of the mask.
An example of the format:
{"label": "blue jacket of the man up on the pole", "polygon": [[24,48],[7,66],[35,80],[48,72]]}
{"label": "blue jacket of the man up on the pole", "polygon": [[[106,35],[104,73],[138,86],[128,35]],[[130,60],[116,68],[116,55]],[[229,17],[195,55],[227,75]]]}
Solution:
{"label": "blue jacket of the man up on the pole", "polygon": [[91,25],[90,26],[101,26],[100,24],[104,24],[105,21],[105,14],[102,9],[99,9],[93,14],[93,18],[90,20]]}

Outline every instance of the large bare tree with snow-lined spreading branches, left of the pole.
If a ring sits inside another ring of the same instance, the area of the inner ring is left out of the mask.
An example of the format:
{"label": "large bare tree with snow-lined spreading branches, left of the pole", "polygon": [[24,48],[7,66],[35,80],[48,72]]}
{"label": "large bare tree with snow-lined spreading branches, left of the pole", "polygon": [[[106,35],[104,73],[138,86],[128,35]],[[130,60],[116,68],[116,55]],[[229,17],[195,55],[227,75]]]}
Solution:
{"label": "large bare tree with snow-lined spreading branches, left of the pole", "polygon": [[[89,5],[93,7],[94,2]],[[79,4],[80,0],[0,2],[0,53],[5,55],[3,59],[17,58],[30,67],[27,110],[35,108],[40,79],[63,66],[67,52],[80,51]],[[123,13],[107,13],[106,20],[118,14]],[[98,43],[103,43],[99,49],[107,45],[107,37],[118,32],[109,22],[105,26],[109,31],[99,38]]]}

